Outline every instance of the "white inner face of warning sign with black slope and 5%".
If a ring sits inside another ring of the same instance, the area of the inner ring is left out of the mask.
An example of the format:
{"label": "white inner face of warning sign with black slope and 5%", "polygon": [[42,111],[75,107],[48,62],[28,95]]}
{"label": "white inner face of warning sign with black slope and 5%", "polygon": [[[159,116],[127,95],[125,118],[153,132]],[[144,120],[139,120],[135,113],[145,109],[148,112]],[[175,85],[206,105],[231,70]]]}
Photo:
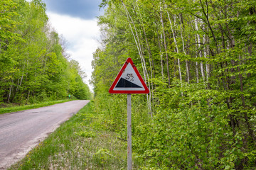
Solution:
{"label": "white inner face of warning sign with black slope and 5%", "polygon": [[128,63],[127,67],[122,72],[121,77],[114,86],[114,91],[144,91],[145,88],[139,80],[132,64]]}

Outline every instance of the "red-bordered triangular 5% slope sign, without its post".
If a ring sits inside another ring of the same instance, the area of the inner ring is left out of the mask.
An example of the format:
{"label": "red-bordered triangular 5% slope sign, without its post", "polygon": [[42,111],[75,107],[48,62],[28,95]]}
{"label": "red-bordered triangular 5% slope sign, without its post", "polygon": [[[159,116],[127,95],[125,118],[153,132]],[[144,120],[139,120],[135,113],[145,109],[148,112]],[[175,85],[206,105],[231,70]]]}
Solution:
{"label": "red-bordered triangular 5% slope sign, without its post", "polygon": [[131,58],[127,58],[109,92],[110,94],[149,94],[149,89]]}

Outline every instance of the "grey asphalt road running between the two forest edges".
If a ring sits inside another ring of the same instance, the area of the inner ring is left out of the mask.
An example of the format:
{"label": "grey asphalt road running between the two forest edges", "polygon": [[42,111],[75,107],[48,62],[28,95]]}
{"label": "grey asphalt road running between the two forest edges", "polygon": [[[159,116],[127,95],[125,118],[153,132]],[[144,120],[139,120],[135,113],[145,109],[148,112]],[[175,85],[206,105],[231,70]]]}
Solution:
{"label": "grey asphalt road running between the two forest edges", "polygon": [[22,159],[88,102],[68,101],[0,115],[0,169],[6,169]]}

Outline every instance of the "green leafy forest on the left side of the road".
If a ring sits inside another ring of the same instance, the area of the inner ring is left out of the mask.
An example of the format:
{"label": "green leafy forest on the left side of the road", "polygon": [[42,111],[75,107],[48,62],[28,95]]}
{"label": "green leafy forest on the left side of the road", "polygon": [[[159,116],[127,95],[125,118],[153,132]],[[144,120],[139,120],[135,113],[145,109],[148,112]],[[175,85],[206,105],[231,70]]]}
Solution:
{"label": "green leafy forest on the left side of the road", "polygon": [[0,103],[89,99],[68,42],[48,22],[41,0],[0,1]]}

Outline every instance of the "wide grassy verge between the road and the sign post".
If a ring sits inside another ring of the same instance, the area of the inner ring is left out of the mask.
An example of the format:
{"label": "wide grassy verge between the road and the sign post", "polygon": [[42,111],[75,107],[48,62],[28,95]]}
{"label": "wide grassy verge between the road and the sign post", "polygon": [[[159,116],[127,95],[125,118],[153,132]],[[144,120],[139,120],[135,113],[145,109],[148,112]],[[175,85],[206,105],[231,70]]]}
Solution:
{"label": "wide grassy verge between the road and the sign post", "polygon": [[90,101],[9,169],[127,169],[127,142],[106,130],[92,107]]}

